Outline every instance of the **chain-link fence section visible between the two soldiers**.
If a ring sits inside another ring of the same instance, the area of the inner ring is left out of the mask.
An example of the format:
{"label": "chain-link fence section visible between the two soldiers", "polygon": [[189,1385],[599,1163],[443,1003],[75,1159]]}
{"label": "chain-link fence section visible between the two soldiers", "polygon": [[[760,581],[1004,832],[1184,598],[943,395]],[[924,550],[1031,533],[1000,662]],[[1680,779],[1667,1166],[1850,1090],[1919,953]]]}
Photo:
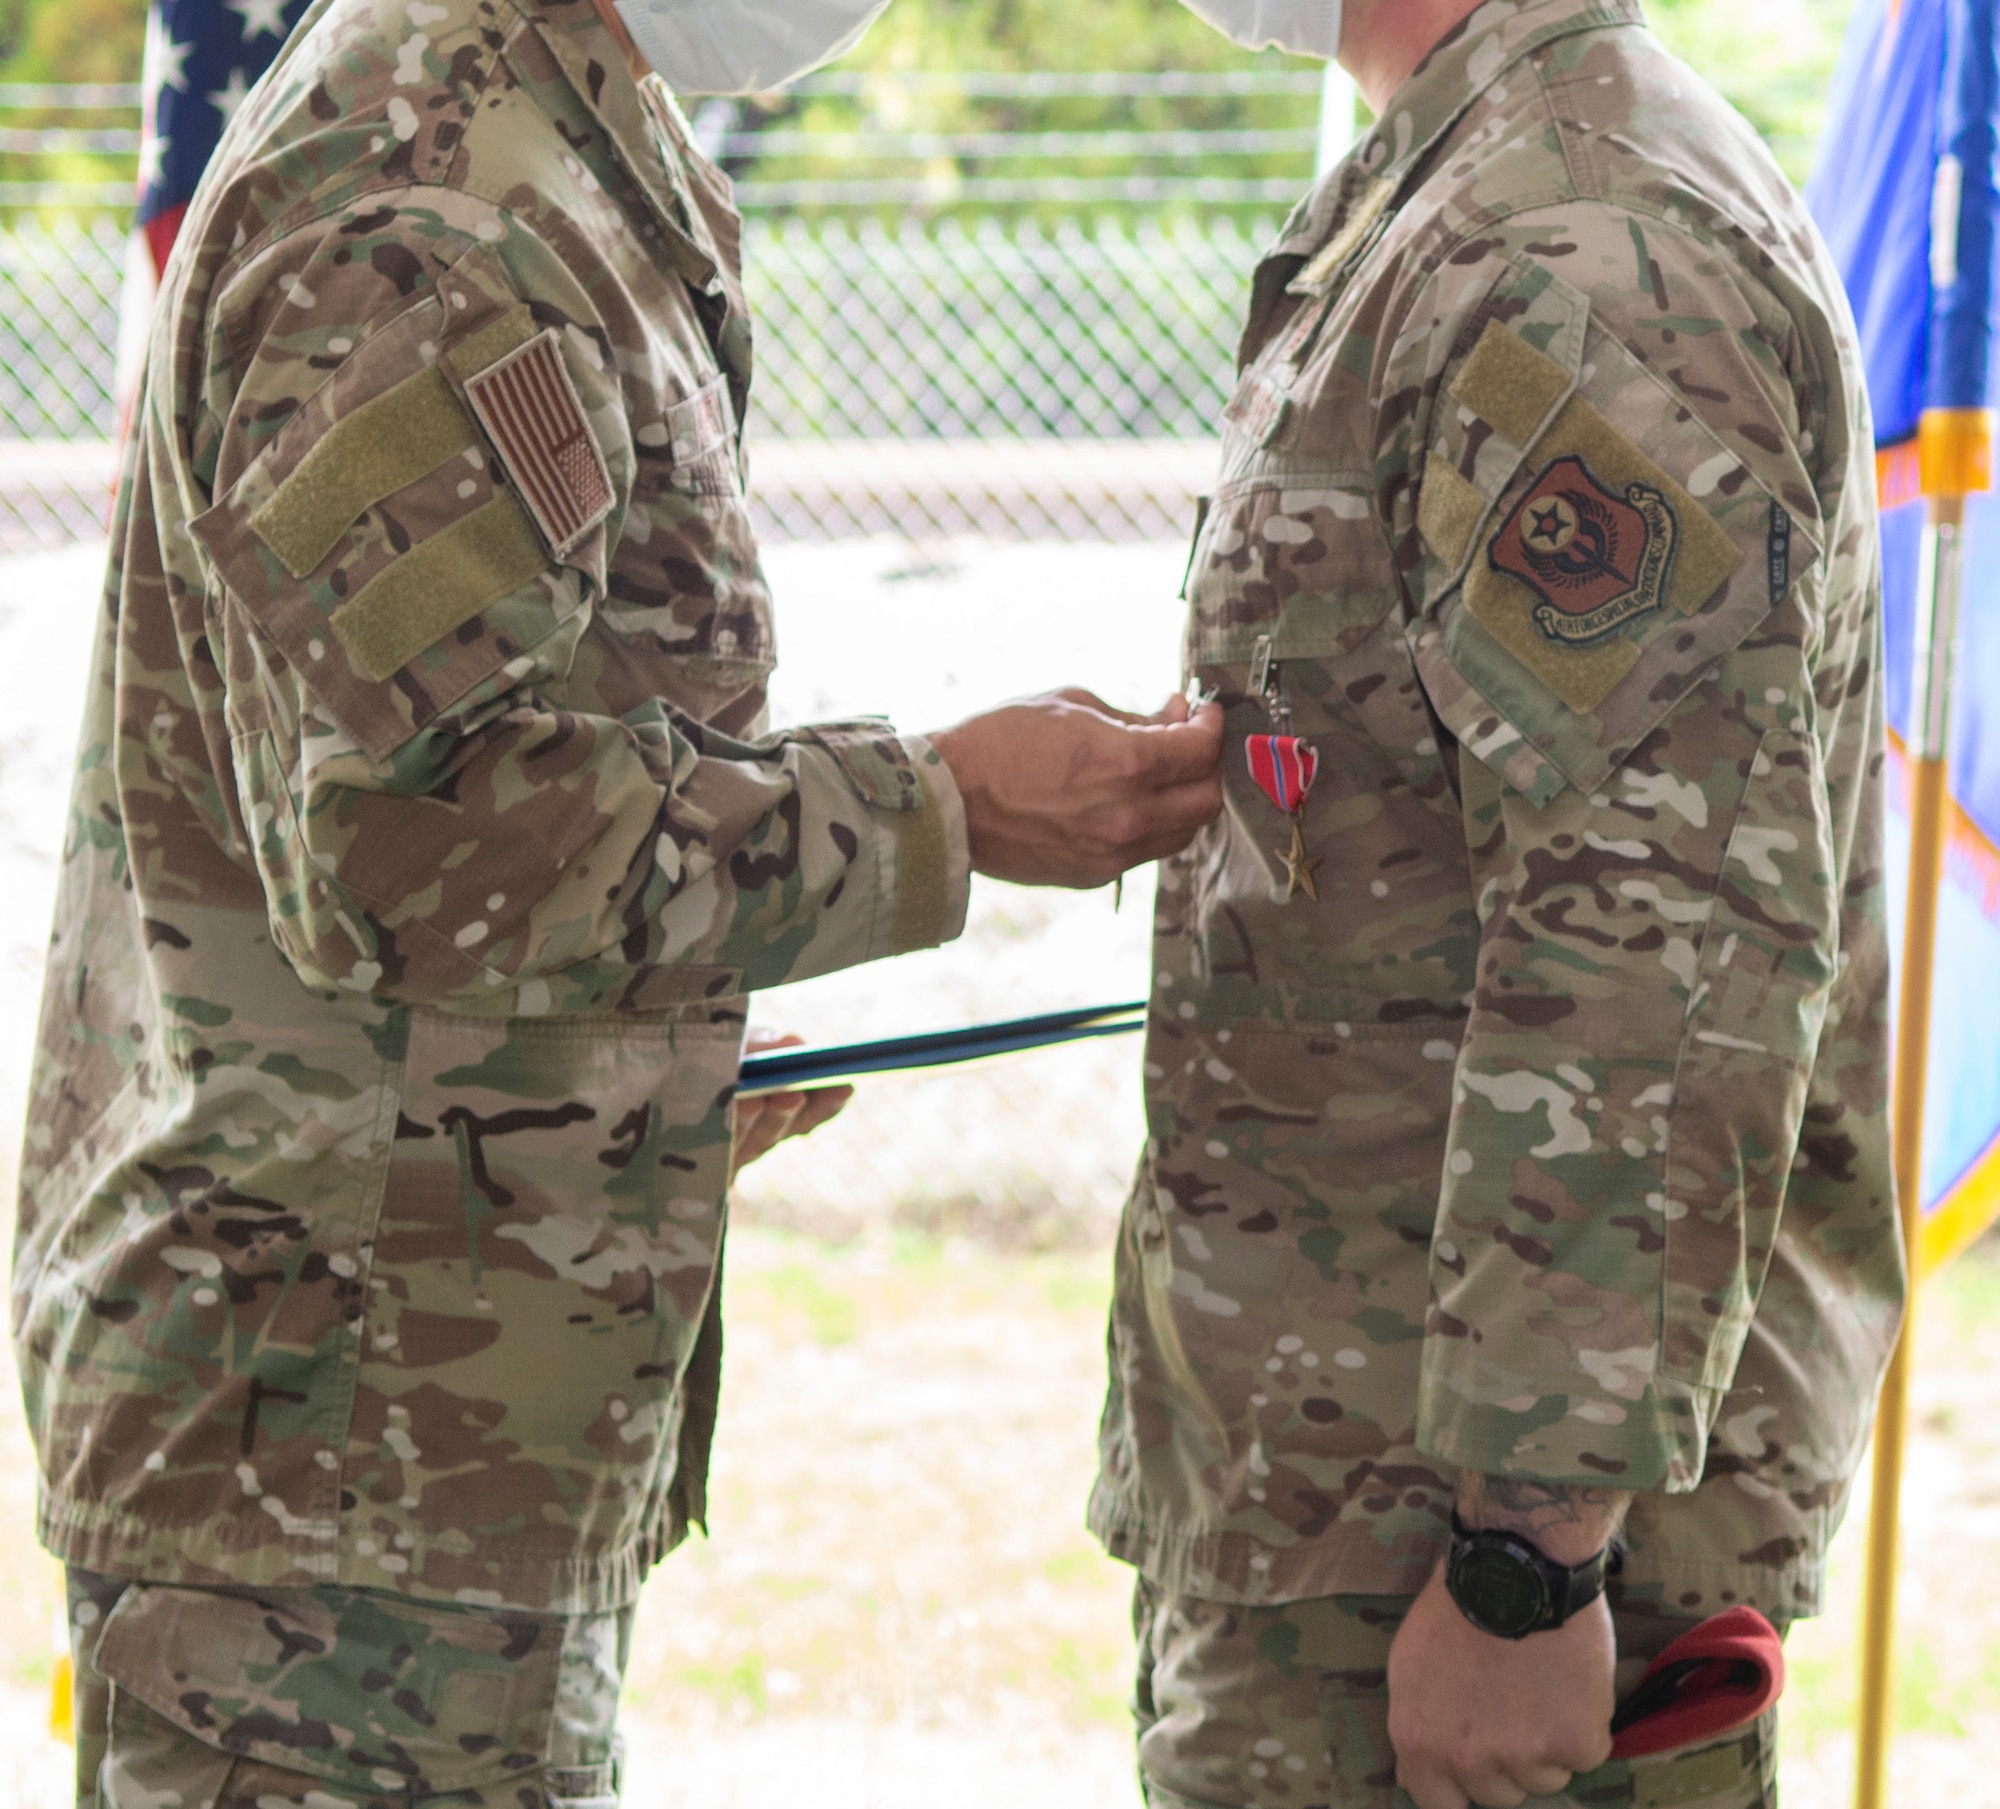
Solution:
{"label": "chain-link fence section visible between the two soldiers", "polygon": [[786,538],[1176,538],[1260,228],[752,220],[750,476]]}

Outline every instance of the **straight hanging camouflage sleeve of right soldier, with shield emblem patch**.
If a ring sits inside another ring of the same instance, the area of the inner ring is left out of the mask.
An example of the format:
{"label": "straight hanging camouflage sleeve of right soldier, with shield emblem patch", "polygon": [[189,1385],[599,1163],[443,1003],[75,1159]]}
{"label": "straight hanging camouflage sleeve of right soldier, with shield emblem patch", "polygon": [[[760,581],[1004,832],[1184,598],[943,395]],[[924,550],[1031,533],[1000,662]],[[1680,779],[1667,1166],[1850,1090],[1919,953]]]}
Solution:
{"label": "straight hanging camouflage sleeve of right soldier, with shield emblem patch", "polygon": [[1680,1491],[1842,959],[1824,748],[1864,708],[1872,574],[1828,552],[1838,370],[1768,298],[1658,222],[1584,206],[1520,236],[1606,274],[1572,286],[1502,234],[1416,310],[1466,322],[1406,460],[1412,652],[1478,900],[1418,1445]]}

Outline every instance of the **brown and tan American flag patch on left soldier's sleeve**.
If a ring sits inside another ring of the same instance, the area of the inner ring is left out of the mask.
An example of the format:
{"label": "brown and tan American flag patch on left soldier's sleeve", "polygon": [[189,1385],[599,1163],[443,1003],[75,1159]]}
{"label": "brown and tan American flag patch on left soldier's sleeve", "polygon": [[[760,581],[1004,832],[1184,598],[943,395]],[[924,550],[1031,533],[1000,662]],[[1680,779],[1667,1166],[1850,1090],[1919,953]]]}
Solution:
{"label": "brown and tan American flag patch on left soldier's sleeve", "polygon": [[466,396],[560,558],[610,514],[612,480],[554,328],[466,378]]}

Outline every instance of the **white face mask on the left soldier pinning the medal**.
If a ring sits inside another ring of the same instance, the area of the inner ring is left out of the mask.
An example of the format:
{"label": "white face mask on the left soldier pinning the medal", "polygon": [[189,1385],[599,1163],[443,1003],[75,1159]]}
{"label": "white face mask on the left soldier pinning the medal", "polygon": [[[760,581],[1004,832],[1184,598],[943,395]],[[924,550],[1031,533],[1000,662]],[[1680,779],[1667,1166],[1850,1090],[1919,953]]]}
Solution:
{"label": "white face mask on the left soldier pinning the medal", "polygon": [[852,50],[888,0],[612,0],[676,94],[764,94]]}

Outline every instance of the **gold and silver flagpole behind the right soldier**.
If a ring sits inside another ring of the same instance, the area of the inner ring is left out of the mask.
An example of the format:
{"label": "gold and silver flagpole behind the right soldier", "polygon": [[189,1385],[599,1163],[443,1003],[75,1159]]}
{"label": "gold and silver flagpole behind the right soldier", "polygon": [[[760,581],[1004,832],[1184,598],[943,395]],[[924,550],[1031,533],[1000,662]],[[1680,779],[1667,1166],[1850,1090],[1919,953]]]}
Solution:
{"label": "gold and silver flagpole behind the right soldier", "polygon": [[1896,1005],[1896,1073],[1890,1103],[1910,1303],[1876,1409],[1868,1583],[1862,1603],[1862,1701],[1854,1753],[1856,1809],[1884,1809],[1888,1801],[1896,1535],[1910,1423],[1910,1365],[1916,1351],[1916,1259],[1924,1215],[1924,1071],[1930,1055],[1938,884],[1944,878],[1944,830],[1950,808],[1946,764],[1952,726],[1952,650],[1958,642],[1958,600],[1964,584],[1966,496],[1992,488],[1992,442],[1994,418],[1984,408],[1930,410],[1918,428],[1928,520],[1916,582],[1916,662],[1910,678],[1910,734],[1904,746],[1910,768],[1910,886],[1904,904],[1902,997]]}

